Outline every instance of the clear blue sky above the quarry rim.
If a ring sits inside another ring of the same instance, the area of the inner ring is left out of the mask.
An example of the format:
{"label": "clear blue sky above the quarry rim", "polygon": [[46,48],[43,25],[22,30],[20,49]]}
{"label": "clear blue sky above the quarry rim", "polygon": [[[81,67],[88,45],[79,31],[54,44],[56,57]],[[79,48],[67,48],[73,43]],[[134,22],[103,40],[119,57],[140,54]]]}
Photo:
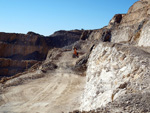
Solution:
{"label": "clear blue sky above the quarry rim", "polygon": [[0,32],[98,29],[138,0],[0,0]]}

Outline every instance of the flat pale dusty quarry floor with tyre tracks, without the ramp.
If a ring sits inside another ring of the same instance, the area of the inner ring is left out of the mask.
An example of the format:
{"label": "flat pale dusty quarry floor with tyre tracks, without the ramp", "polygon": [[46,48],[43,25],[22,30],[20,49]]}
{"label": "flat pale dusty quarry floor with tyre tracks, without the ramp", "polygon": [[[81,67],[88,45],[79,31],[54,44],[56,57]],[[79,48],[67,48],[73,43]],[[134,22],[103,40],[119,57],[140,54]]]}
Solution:
{"label": "flat pale dusty quarry floor with tyre tracks, without the ramp", "polygon": [[1,113],[62,113],[78,109],[85,77],[57,70],[43,78],[9,87],[0,95]]}

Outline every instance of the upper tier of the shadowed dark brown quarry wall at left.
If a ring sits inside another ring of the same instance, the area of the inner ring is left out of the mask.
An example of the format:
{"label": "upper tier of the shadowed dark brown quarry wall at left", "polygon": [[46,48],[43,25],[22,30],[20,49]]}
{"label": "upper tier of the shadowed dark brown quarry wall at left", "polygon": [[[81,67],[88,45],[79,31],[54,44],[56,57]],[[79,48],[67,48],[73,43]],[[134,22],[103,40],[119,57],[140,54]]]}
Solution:
{"label": "upper tier of the shadowed dark brown quarry wall at left", "polygon": [[[49,46],[44,39],[44,36],[38,34],[15,34],[15,33],[0,33],[0,57],[22,60],[43,60],[46,57]],[[37,53],[36,53],[37,52]],[[41,54],[41,58],[34,53]],[[33,54],[32,58],[31,54]]]}

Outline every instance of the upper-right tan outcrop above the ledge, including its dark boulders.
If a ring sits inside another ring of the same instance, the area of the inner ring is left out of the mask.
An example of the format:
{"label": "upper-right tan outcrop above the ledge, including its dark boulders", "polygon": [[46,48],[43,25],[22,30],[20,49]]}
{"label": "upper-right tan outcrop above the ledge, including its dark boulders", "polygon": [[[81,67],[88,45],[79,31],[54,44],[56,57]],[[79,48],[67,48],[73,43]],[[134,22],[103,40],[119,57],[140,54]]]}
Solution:
{"label": "upper-right tan outcrop above the ledge, including its dark boulders", "polygon": [[[149,26],[150,3],[140,0],[133,4],[127,14],[116,14],[108,26],[93,30],[88,39],[126,43],[135,46],[148,46],[149,41],[144,41],[143,34],[148,39],[146,26]],[[109,32],[108,32],[109,31]],[[142,32],[141,32],[142,31]],[[140,37],[140,34],[143,33]],[[140,42],[142,41],[142,42]],[[143,43],[144,41],[144,43]],[[142,44],[143,43],[143,44]]]}

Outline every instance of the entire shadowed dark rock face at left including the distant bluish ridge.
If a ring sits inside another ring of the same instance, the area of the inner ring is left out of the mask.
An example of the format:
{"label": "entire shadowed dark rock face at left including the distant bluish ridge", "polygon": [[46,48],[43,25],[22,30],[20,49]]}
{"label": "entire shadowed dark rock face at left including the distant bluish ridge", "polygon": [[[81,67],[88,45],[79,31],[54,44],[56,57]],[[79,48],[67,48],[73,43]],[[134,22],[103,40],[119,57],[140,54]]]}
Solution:
{"label": "entire shadowed dark rock face at left including the distant bluish ridge", "polygon": [[48,50],[68,46],[80,39],[83,31],[57,31],[50,36],[0,33],[0,77],[23,72],[45,60]]}

